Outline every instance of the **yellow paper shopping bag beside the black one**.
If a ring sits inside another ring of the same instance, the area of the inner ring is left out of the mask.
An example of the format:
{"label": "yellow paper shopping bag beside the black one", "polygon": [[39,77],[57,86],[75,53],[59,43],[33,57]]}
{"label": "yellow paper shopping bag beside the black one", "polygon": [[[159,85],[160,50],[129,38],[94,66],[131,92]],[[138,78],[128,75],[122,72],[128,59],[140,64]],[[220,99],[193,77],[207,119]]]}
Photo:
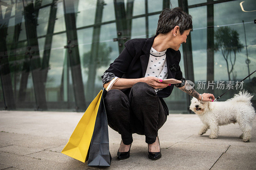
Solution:
{"label": "yellow paper shopping bag beside the black one", "polygon": [[102,90],[84,112],[84,115],[76,125],[74,132],[61,153],[85,162],[87,154],[89,154],[88,150],[92,140],[92,133],[100,105],[101,95]]}

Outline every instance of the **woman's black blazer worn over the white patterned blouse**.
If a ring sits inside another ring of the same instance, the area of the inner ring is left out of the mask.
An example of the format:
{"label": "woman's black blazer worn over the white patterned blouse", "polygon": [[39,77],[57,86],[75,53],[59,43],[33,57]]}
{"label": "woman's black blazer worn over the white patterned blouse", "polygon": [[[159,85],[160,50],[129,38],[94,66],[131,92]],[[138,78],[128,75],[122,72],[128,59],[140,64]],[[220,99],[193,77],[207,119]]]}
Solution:
{"label": "woman's black blazer worn over the white patterned blouse", "polygon": [[[116,60],[109,65],[108,72],[114,73],[119,78],[143,78],[145,76],[150,49],[156,35],[150,38],[136,38],[128,40],[124,43],[125,48]],[[168,78],[181,80],[182,72],[180,70],[180,51],[172,48],[166,50],[166,64],[168,70]],[[174,85],[165,87],[157,92],[157,96],[165,98],[170,96]],[[131,88],[121,90],[126,95]]]}

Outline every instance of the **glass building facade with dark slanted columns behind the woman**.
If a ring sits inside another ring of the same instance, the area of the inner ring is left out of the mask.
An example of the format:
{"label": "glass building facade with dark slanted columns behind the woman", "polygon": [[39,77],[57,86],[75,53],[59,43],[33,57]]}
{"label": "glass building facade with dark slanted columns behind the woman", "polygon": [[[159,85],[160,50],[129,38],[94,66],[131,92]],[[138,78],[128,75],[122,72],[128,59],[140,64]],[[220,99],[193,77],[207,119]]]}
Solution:
{"label": "glass building facade with dark slanted columns behind the woman", "polygon": [[[193,17],[180,47],[183,77],[197,92],[256,93],[255,0],[1,0],[0,108],[84,112],[104,71],[133,38],[155,35],[162,9]],[[170,113],[190,113],[174,87]],[[255,104],[256,97],[252,98]],[[254,105],[255,106],[255,105]]]}

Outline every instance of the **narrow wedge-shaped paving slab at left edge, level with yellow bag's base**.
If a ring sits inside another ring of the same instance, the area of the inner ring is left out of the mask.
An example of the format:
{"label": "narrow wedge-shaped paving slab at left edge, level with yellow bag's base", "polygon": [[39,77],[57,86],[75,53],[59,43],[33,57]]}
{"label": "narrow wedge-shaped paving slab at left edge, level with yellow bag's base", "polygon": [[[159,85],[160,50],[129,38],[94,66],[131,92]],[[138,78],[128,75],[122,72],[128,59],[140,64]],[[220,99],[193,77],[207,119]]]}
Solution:
{"label": "narrow wedge-shaped paving slab at left edge, level with yellow bag's base", "polygon": [[0,151],[14,153],[17,155],[27,155],[27,154],[39,152],[42,150],[36,149],[36,148],[24,147],[24,146],[11,145],[11,146],[1,147]]}

